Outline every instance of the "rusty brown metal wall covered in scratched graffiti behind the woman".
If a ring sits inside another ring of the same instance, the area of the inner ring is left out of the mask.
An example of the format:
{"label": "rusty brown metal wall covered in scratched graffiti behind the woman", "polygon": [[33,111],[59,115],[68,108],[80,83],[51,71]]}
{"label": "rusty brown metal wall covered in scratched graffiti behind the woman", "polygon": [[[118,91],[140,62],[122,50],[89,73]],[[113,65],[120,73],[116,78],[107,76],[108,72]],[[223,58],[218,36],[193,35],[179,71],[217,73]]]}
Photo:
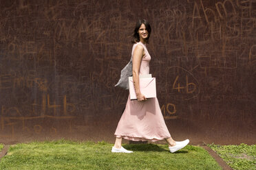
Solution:
{"label": "rusty brown metal wall covered in scratched graffiti behind the woman", "polygon": [[255,143],[255,0],[0,3],[0,143],[114,141],[135,22],[173,138]]}

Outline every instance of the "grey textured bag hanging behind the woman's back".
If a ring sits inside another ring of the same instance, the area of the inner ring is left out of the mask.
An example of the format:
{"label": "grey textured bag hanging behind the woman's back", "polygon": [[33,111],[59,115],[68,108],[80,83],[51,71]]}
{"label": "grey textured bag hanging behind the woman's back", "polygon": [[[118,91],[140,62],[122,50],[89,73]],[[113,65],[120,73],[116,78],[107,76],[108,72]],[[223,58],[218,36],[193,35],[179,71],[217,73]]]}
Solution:
{"label": "grey textured bag hanging behind the woman's back", "polygon": [[128,64],[122,69],[120,79],[115,86],[129,90],[129,77],[132,76],[132,57]]}

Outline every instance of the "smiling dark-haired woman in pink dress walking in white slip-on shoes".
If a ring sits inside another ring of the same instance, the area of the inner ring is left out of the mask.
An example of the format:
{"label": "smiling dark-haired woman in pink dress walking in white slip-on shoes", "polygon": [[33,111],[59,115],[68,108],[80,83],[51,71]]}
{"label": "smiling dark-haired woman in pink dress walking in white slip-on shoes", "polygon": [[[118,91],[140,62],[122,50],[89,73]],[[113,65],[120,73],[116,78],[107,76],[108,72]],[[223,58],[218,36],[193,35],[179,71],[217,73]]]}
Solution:
{"label": "smiling dark-haired woman in pink dress walking in white slip-on shoes", "polygon": [[132,72],[134,88],[138,100],[128,97],[125,111],[116,128],[116,142],[112,152],[132,153],[122,147],[122,138],[131,141],[160,141],[165,139],[171,153],[182,149],[189,143],[174,141],[165,125],[157,98],[147,99],[140,93],[139,75],[149,74],[151,57],[147,51],[147,43],[151,34],[151,27],[145,20],[139,20],[134,29],[134,46],[132,47]]}

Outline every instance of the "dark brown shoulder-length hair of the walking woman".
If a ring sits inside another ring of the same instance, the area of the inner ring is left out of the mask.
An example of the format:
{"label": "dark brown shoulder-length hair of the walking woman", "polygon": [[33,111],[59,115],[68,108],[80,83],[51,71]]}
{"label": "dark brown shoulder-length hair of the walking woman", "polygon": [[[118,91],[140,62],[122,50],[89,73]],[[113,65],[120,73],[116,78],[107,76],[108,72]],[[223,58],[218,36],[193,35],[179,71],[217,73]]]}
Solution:
{"label": "dark brown shoulder-length hair of the walking woman", "polygon": [[140,42],[140,36],[138,34],[138,30],[140,29],[140,26],[142,25],[142,23],[144,23],[144,25],[147,29],[147,32],[149,33],[149,35],[145,39],[145,42],[147,44],[149,43],[149,37],[150,37],[150,34],[151,34],[151,27],[149,25],[149,22],[145,19],[140,19],[140,20],[137,21],[136,26],[134,28],[134,34],[133,34],[134,40],[132,40],[131,43]]}

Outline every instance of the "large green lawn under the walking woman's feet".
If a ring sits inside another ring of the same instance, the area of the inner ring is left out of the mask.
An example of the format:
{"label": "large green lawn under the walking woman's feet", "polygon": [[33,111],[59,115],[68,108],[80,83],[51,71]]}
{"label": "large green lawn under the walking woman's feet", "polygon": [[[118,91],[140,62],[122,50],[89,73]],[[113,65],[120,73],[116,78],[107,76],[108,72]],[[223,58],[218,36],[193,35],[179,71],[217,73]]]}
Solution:
{"label": "large green lawn under the walking woman's feet", "polygon": [[221,169],[201,147],[187,145],[175,154],[167,145],[125,144],[132,154],[111,153],[113,144],[52,141],[12,145],[0,169]]}

